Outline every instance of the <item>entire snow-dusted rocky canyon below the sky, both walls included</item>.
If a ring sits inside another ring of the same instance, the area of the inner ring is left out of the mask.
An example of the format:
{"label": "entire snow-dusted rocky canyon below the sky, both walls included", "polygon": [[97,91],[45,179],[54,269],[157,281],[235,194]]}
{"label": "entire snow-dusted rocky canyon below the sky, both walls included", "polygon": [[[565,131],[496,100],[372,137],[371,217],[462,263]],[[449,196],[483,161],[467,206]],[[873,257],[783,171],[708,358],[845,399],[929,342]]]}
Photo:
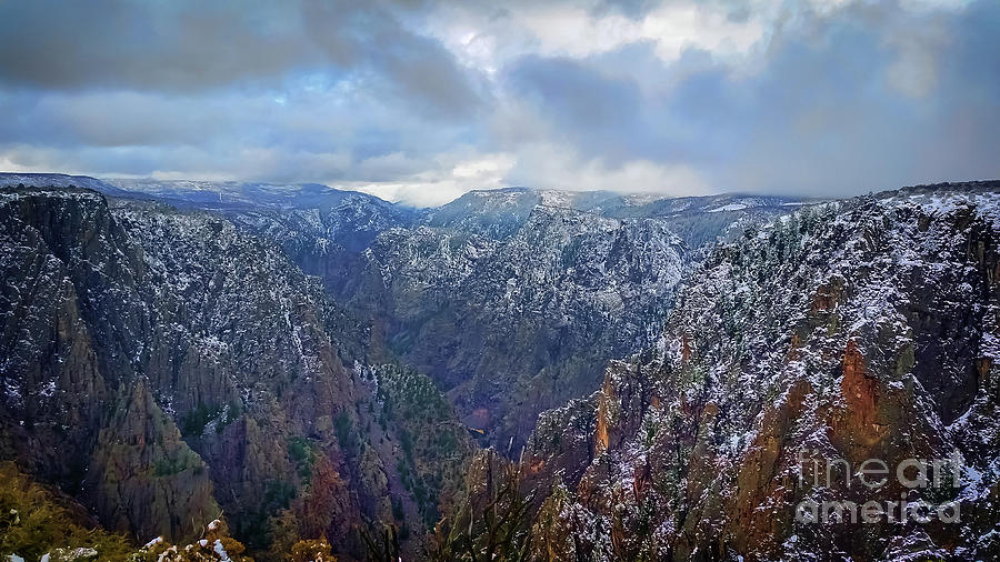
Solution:
{"label": "entire snow-dusted rocky canyon below the sky, both walls included", "polygon": [[[256,560],[1000,555],[998,182],[0,185],[0,460],[137,551],[220,520]],[[962,469],[876,498],[799,485],[802,448]],[[961,521],[796,516],[901,496]]]}

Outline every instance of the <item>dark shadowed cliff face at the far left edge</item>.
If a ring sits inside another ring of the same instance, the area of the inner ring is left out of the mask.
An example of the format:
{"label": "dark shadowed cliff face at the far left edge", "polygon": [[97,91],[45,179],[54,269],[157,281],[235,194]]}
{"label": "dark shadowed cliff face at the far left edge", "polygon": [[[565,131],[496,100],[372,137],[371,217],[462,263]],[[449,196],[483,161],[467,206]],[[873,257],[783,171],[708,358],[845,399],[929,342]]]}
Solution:
{"label": "dark shadowed cliff face at the far left edge", "polygon": [[100,275],[83,260],[87,247],[68,243],[83,242],[76,232],[93,232],[84,222],[108,224],[104,213],[83,211],[103,201],[91,192],[67,193],[52,205],[42,192],[0,197],[0,448],[28,470],[72,486],[87,470],[111,392],[87,322],[91,301],[73,282]]}

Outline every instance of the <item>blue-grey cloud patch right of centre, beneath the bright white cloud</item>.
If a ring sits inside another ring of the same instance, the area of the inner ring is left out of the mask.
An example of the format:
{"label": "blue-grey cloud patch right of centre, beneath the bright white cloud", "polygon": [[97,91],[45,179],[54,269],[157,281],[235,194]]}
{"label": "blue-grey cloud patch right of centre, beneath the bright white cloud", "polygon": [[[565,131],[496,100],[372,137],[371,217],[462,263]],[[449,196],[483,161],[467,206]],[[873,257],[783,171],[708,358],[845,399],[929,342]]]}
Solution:
{"label": "blue-grey cloud patch right of centre, beneath the bright white cloud", "polygon": [[[653,51],[643,42],[587,59],[527,57],[511,66],[507,86],[586,159],[612,167],[633,160],[673,164],[718,151],[699,144],[719,141],[720,108],[699,91],[713,87],[708,82],[714,72],[706,70],[711,58],[691,51],[667,66]],[[691,103],[676,113],[668,92]]]}

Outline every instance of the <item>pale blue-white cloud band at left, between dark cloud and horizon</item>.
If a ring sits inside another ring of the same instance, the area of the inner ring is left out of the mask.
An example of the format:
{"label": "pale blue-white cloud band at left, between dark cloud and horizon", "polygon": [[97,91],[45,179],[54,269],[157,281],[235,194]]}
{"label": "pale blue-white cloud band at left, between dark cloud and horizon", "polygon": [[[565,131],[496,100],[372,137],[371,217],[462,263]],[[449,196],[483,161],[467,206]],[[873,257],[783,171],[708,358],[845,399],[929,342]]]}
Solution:
{"label": "pale blue-white cloud band at left, between dark cloud and horizon", "polygon": [[11,116],[0,120],[0,161],[98,175],[388,181],[372,164],[363,178],[356,171],[392,154],[432,162],[469,134],[464,123],[431,127],[408,111],[326,91],[280,102],[267,92],[0,91],[0,112]]}

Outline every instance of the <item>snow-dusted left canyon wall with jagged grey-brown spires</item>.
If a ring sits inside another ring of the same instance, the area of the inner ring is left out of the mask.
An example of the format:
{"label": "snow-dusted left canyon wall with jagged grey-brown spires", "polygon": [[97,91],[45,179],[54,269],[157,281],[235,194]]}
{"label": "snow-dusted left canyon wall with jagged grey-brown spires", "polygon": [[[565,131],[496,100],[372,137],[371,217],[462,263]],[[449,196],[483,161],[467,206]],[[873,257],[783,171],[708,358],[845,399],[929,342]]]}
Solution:
{"label": "snow-dusted left canyon wall with jagged grey-brown spires", "polygon": [[[143,541],[224,510],[258,550],[281,529],[360,555],[377,521],[419,546],[444,486],[429,474],[468,436],[436,393],[392,390],[423,375],[366,367],[363,323],[273,242],[79,189],[4,189],[0,218],[4,459]],[[403,446],[390,398],[450,440]]]}

